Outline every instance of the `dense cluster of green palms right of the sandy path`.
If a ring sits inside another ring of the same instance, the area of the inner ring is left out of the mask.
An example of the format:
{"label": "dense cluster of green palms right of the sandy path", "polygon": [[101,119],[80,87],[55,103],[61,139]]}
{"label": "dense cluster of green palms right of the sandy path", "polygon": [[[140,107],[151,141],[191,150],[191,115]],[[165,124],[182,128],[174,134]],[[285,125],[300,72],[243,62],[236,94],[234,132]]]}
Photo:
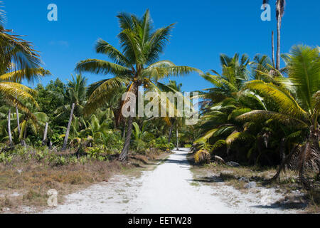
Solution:
{"label": "dense cluster of green palms right of the sandy path", "polygon": [[[256,56],[250,63],[252,81],[242,76],[246,70],[233,70],[240,76],[226,77],[231,75],[225,73],[227,64],[223,64],[222,76],[203,75],[215,87],[203,94],[209,103],[203,106],[203,135],[197,142],[212,143],[213,152],[225,148],[227,156],[235,151],[238,159],[242,152],[237,145],[245,143],[247,162],[252,156],[255,162],[262,157],[271,160],[274,151],[286,154],[282,163],[299,170],[307,185],[304,170],[319,169],[320,164],[319,48],[294,46],[283,57],[286,67],[274,74],[267,57]],[[240,78],[238,83],[236,78]],[[285,148],[289,150],[284,152]]]}

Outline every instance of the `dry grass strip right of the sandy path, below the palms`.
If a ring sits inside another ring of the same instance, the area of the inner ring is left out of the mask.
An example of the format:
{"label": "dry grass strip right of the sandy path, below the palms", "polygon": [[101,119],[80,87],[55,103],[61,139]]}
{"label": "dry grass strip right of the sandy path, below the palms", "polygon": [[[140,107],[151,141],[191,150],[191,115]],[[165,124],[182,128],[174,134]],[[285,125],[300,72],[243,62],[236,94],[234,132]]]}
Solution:
{"label": "dry grass strip right of the sandy path, below the palms", "polygon": [[[193,164],[192,171],[195,175],[206,178],[208,174],[215,175],[215,178],[225,182],[227,185],[235,187],[241,192],[247,192],[245,188],[247,182],[256,182],[259,187],[274,187],[282,194],[286,195],[288,207],[289,204],[307,204],[304,209],[306,213],[320,213],[320,190],[316,188],[313,191],[306,191],[299,183],[297,173],[291,170],[282,172],[280,180],[270,182],[270,179],[275,175],[277,170],[274,167],[230,167],[228,165],[220,165],[218,163],[210,163],[208,165],[196,165],[193,156],[188,156],[189,161]],[[240,179],[242,177],[242,179]],[[244,181],[246,180],[246,181]],[[207,180],[208,181],[208,180]],[[292,192],[302,192],[304,197],[293,197]]]}

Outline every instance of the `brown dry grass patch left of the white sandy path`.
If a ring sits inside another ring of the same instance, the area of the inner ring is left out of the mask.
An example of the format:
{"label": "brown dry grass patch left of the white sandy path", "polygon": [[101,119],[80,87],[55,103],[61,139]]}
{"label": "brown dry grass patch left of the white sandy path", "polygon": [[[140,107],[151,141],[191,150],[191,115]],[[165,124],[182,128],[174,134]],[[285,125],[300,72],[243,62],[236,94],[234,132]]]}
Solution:
{"label": "brown dry grass patch left of the white sandy path", "polygon": [[0,213],[23,212],[23,207],[44,209],[50,189],[58,191],[58,203],[62,203],[64,195],[107,181],[114,174],[138,174],[142,169],[137,167],[144,167],[159,156],[161,152],[150,156],[134,155],[126,164],[115,159],[58,166],[36,160],[14,160],[10,164],[0,164]]}

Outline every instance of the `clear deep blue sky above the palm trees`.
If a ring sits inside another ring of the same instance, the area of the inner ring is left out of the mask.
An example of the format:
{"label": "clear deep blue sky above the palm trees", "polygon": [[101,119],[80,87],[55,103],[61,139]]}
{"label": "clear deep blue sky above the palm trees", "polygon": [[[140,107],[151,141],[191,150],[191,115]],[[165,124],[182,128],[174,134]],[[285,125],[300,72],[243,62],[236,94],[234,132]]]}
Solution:
{"label": "clear deep blue sky above the palm trees", "polygon": [[[119,48],[117,18],[120,11],[142,16],[150,9],[154,26],[160,28],[176,22],[171,41],[161,59],[169,59],[177,65],[193,66],[208,71],[220,71],[219,54],[233,56],[247,53],[271,55],[271,31],[276,30],[274,4],[272,21],[261,21],[262,0],[161,0],[161,1],[75,1],[75,0],[2,0],[8,21],[6,28],[27,35],[44,62],[44,68],[53,76],[42,80],[70,79],[75,63],[85,58],[101,58],[94,44],[103,38]],[[47,6],[58,6],[58,21],[47,20]],[[320,45],[320,1],[289,0],[282,21],[282,53],[294,44]],[[105,76],[85,74],[89,83]],[[183,90],[208,88],[196,74],[177,78]]]}

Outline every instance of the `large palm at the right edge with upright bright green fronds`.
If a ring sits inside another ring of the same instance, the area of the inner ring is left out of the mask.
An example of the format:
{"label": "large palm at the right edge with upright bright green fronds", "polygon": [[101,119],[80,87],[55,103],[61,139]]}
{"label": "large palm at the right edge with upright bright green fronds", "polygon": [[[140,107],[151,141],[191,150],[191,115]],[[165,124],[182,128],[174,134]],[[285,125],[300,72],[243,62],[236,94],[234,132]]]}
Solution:
{"label": "large palm at the right edge with upright bright green fronds", "polygon": [[264,81],[250,81],[245,88],[272,99],[277,110],[252,110],[240,115],[240,120],[273,119],[285,125],[292,125],[299,129],[301,142],[296,143],[291,152],[283,160],[277,175],[284,168],[284,162],[290,162],[297,157],[297,170],[302,183],[309,184],[304,177],[304,170],[308,165],[312,167],[320,164],[319,148],[319,90],[320,90],[320,56],[319,48],[309,46],[294,46],[285,58],[287,62],[288,78],[277,78],[277,84]]}

